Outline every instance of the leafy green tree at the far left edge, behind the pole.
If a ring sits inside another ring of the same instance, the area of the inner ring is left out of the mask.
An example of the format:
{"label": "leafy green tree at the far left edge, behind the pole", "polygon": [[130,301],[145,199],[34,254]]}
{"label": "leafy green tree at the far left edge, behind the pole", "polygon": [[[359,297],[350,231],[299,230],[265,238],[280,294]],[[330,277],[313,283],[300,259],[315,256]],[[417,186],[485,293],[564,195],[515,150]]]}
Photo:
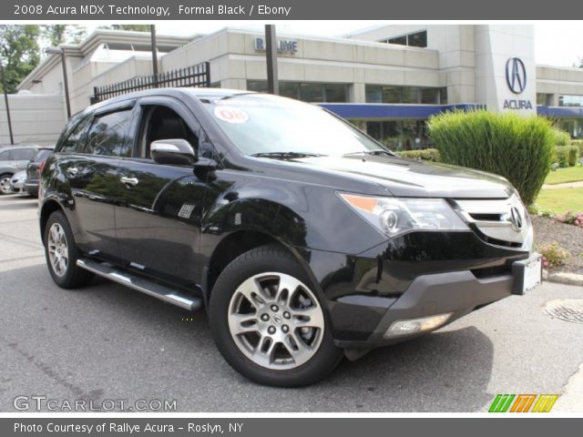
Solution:
{"label": "leafy green tree at the far left edge, behind the pole", "polygon": [[[39,36],[38,25],[0,25],[0,61],[8,93],[15,93],[16,86],[40,61]],[[1,83],[0,90],[4,91]]]}

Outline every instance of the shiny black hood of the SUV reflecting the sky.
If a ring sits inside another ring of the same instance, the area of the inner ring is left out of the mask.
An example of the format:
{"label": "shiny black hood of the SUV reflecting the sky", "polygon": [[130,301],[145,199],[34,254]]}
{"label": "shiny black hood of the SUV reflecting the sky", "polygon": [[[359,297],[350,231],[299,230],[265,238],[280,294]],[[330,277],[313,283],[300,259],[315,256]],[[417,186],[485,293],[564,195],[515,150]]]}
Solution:
{"label": "shiny black hood of the SUV reflecting the sky", "polygon": [[[508,198],[515,189],[506,178],[470,168],[390,156],[284,158],[303,168],[378,184],[396,197]],[[338,187],[343,189],[343,187]]]}

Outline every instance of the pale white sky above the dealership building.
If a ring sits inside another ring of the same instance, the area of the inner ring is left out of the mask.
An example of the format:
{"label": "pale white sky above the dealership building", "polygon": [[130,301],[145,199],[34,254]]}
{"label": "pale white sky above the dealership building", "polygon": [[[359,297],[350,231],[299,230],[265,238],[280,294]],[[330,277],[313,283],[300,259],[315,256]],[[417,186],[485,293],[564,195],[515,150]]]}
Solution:
{"label": "pale white sky above the dealership building", "polygon": [[[330,37],[344,36],[356,30],[396,23],[403,24],[404,22],[289,20],[275,21],[270,24],[275,24],[278,32],[281,33]],[[197,33],[208,34],[226,26],[262,29],[264,24],[260,21],[166,21],[158,22],[156,28],[160,35],[191,36]],[[499,24],[505,24],[505,22]],[[573,66],[578,61],[578,57],[583,57],[583,21],[544,21],[525,24],[535,26],[537,64]],[[95,25],[88,27],[92,30]]]}

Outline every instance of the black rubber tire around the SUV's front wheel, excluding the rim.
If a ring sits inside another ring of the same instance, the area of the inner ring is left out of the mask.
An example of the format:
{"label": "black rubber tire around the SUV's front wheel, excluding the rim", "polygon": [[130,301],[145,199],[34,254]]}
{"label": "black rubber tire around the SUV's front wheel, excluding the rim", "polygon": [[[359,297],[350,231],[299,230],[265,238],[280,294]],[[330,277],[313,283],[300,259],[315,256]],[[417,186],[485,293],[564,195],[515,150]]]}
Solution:
{"label": "black rubber tire around the SUV's front wheel, excluding the rim", "polygon": [[[312,359],[295,369],[274,371],[249,360],[230,335],[227,319],[230,299],[240,284],[251,276],[277,271],[299,279],[312,290],[324,315],[324,333],[319,350]],[[261,384],[278,387],[299,387],[322,380],[342,358],[332,337],[332,323],[322,296],[312,285],[302,266],[282,249],[262,247],[252,249],[235,259],[222,271],[210,295],[210,329],[217,346],[230,365],[243,376]]]}

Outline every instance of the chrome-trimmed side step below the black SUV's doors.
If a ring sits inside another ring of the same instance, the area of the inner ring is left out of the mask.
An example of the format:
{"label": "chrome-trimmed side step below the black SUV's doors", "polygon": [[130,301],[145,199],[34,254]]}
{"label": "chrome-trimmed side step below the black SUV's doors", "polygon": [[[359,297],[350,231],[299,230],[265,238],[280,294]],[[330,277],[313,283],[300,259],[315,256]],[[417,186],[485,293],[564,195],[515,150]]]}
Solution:
{"label": "chrome-trimmed side step below the black SUV's doors", "polygon": [[101,264],[92,259],[77,259],[77,266],[185,310],[196,311],[202,308],[202,299],[196,296],[189,296],[107,264]]}

